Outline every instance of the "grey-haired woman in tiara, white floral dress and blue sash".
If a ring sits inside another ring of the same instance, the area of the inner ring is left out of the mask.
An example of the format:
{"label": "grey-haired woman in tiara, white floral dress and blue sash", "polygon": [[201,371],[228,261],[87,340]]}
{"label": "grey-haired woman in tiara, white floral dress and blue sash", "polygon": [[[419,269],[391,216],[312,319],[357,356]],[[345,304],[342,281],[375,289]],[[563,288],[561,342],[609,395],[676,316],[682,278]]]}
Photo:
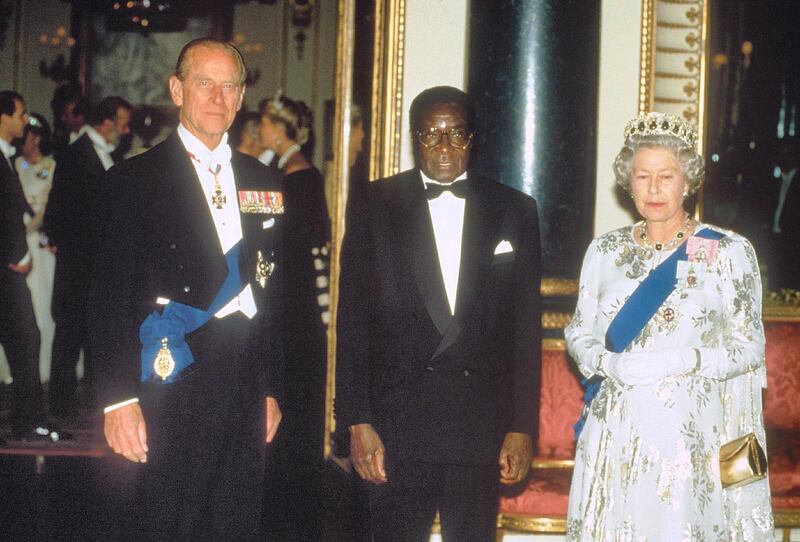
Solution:
{"label": "grey-haired woman in tiara, white floral dress and blue sash", "polygon": [[753,248],[685,211],[704,162],[682,119],[629,122],[614,171],[644,220],[592,241],[565,331],[596,393],[579,429],[567,540],[772,540],[768,480],[724,489],[719,465],[726,442],[754,432],[765,444]]}

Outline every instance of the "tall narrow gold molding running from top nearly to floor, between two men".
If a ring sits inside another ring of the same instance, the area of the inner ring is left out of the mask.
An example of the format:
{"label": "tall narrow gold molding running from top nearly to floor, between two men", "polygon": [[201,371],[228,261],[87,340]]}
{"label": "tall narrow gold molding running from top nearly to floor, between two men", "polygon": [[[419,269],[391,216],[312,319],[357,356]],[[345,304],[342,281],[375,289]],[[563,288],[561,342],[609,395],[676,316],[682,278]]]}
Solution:
{"label": "tall narrow gold molding running from top nearly to floor, between two men", "polygon": [[328,368],[325,386],[325,435],[323,455],[333,453],[331,435],[336,429],[333,399],[336,392],[336,313],[339,303],[339,254],[344,237],[344,212],[350,175],[350,115],[353,101],[353,47],[355,45],[355,0],[339,0],[336,24],[336,89],[334,100],[333,168],[331,198],[332,247],[330,263],[330,319],[328,321]]}

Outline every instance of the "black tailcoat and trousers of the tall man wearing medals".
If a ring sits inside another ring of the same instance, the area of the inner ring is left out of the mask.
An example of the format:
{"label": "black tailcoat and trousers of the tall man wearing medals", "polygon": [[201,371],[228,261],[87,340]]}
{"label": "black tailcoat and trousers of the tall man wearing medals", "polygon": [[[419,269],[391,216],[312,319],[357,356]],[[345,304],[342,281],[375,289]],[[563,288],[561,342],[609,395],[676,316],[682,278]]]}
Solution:
{"label": "black tailcoat and trousers of the tall man wearing medals", "polygon": [[[231,165],[238,191],[280,190],[257,160],[234,152]],[[91,346],[100,404],[139,397],[145,415],[150,452],[142,469],[140,522],[156,537],[225,532],[226,538],[249,539],[260,520],[263,398],[281,395],[282,215],[239,214],[245,243],[240,270],[258,314],[212,318],[187,336],[196,368],[190,376],[141,384],[139,326],[156,299],[205,309],[227,267],[177,133],[115,166],[102,181]],[[256,280],[259,252],[276,263],[266,287]],[[174,511],[166,519],[165,509]]]}

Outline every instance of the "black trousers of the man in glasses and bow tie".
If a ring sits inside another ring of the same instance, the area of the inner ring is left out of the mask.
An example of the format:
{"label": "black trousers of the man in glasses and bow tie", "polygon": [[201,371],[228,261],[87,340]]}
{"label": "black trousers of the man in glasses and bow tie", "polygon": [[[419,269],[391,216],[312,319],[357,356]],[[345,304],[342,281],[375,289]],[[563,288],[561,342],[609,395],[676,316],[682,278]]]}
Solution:
{"label": "black trousers of the man in glasses and bow tie", "polygon": [[376,542],[427,542],[437,511],[444,542],[494,542],[497,465],[387,461],[386,476],[387,483],[370,484]]}

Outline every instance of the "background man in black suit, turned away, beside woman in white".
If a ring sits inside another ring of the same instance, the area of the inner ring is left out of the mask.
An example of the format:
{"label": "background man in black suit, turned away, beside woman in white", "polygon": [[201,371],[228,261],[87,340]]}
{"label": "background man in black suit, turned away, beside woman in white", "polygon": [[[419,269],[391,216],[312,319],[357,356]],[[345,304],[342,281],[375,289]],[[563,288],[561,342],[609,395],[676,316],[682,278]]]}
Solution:
{"label": "background man in black suit, turned away, beside woman in white", "polygon": [[80,137],[56,156],[44,232],[56,253],[52,309],[56,330],[48,399],[50,413],[60,417],[74,414],[77,407],[75,368],[81,351],[84,397],[87,403],[93,402],[92,356],[86,327],[94,250],[92,222],[103,212],[102,202],[98,202],[102,176],[114,165],[111,154],[120,138],[130,133],[132,110],[117,96],[103,99],[92,111]]}

